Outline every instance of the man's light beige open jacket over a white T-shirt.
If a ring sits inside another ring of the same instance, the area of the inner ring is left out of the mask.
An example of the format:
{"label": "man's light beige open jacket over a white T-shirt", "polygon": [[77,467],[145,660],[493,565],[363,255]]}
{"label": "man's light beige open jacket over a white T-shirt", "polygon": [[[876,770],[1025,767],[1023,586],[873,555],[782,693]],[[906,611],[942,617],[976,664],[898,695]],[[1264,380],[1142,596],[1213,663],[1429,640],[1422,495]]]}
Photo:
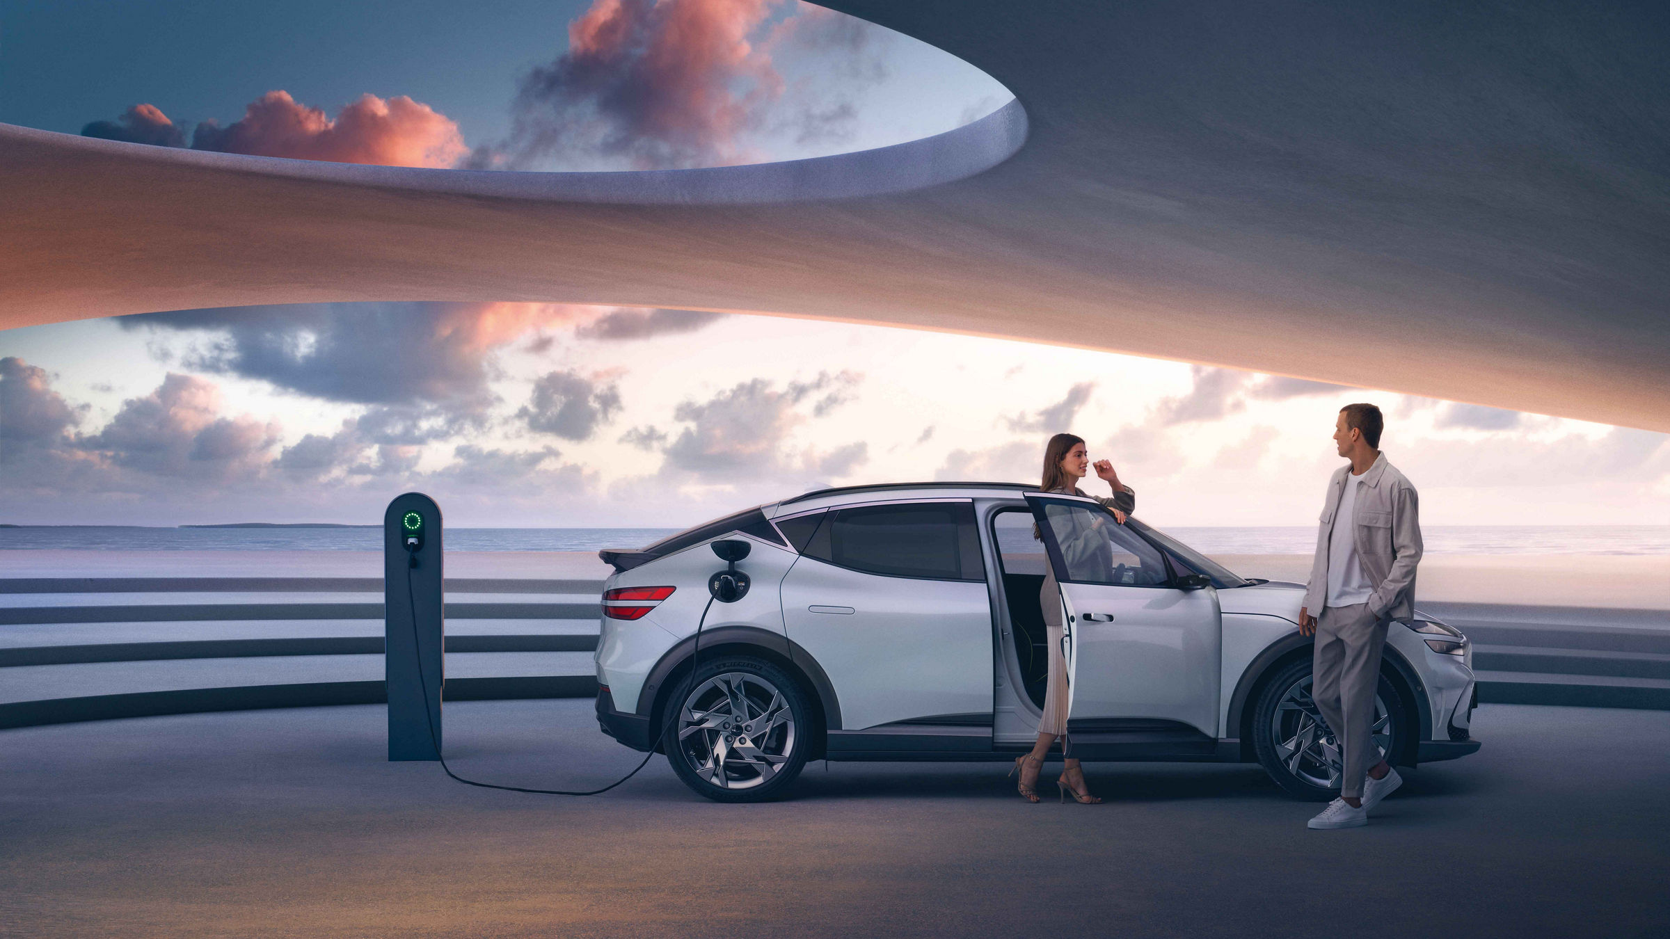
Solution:
{"label": "man's light beige open jacket over a white T-shirt", "polygon": [[[1313,617],[1321,617],[1328,603],[1328,533],[1333,531],[1334,511],[1339,510],[1349,476],[1351,464],[1346,463],[1328,481],[1328,500],[1316,531],[1316,560],[1311,561],[1311,581],[1304,590],[1304,608]],[[1358,561],[1363,575],[1374,585],[1374,593],[1368,598],[1369,613],[1408,620],[1414,615],[1414,565],[1421,561],[1420,500],[1414,486],[1386,461],[1384,453],[1363,475],[1351,521]]]}

